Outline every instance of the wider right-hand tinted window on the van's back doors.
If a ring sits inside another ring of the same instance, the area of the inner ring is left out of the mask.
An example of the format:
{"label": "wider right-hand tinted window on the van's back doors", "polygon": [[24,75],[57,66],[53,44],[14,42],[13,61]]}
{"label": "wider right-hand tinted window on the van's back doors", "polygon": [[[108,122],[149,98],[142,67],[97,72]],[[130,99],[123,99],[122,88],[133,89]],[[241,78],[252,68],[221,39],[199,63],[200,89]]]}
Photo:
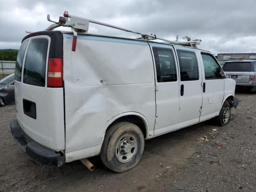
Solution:
{"label": "wider right-hand tinted window on the van's back doors", "polygon": [[45,86],[45,65],[48,48],[47,39],[32,39],[26,53],[23,82],[35,86]]}

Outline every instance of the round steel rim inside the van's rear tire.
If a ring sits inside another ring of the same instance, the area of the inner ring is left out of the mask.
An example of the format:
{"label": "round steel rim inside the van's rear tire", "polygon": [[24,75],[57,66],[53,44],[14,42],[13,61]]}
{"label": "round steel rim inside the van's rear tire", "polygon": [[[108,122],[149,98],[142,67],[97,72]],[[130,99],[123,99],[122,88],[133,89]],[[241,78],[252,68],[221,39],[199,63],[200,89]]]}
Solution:
{"label": "round steel rim inside the van's rear tire", "polygon": [[125,134],[116,144],[116,158],[122,163],[127,163],[135,156],[138,144],[132,134]]}

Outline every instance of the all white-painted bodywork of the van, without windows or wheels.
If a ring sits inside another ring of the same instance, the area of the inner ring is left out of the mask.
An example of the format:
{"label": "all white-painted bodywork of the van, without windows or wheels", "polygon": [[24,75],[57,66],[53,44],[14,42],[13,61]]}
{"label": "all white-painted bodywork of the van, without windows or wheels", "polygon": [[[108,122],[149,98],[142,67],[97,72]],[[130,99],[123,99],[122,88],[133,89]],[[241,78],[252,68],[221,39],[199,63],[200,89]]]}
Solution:
{"label": "all white-painted bodywork of the van, without windows or wheels", "polygon": [[[50,45],[49,36],[32,38],[48,38]],[[47,78],[45,87],[15,81],[18,124],[39,144],[61,150],[65,162],[100,154],[107,128],[121,117],[139,117],[150,139],[218,116],[226,98],[234,97],[234,80],[205,80],[204,50],[86,34],[77,36],[72,52],[72,38],[63,33],[63,88],[47,88]],[[176,82],[157,82],[153,47],[173,52]],[[199,80],[180,80],[177,50],[196,54]],[[46,73],[47,63],[48,54]],[[36,121],[22,113],[22,98],[36,102]]]}

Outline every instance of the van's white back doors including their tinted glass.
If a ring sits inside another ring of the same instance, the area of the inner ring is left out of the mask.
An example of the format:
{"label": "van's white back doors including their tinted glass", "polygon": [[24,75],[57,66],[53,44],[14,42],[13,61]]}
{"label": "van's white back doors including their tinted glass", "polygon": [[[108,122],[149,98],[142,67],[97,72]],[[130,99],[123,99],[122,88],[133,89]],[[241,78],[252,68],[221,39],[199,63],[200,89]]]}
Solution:
{"label": "van's white back doors including their tinted glass", "polygon": [[20,58],[15,70],[16,112],[18,124],[30,138],[48,148],[62,150],[65,144],[63,88],[47,86],[51,42],[48,35],[36,35],[22,43],[21,55],[27,45],[24,59]]}

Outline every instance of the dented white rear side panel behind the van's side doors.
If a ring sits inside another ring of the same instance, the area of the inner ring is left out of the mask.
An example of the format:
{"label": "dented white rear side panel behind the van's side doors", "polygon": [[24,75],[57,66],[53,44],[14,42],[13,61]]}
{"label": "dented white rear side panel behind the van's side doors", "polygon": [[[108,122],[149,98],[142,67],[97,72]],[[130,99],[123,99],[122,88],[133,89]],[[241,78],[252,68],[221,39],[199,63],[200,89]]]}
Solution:
{"label": "dented white rear side panel behind the van's side doors", "polygon": [[143,114],[154,130],[154,66],[147,42],[64,34],[66,162],[100,153],[108,121]]}

